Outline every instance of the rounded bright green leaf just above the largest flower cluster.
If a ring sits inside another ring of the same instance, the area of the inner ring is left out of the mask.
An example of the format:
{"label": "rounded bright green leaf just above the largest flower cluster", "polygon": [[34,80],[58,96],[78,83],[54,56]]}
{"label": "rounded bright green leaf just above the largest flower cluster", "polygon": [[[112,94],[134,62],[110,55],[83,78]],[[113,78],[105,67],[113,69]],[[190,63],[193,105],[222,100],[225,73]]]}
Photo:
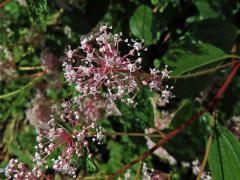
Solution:
{"label": "rounded bright green leaf just above the largest flower cluster", "polygon": [[130,30],[138,38],[144,39],[146,45],[152,44],[152,10],[141,5],[130,18]]}

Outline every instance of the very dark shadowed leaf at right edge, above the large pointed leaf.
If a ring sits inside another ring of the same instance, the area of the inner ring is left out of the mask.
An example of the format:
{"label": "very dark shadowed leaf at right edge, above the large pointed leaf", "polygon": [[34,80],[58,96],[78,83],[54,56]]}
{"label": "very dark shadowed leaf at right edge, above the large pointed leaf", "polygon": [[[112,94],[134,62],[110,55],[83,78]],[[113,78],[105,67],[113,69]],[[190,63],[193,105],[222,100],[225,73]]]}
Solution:
{"label": "very dark shadowed leaf at right edge, above the large pointed leaf", "polygon": [[195,24],[194,38],[229,52],[239,30],[233,24],[220,19],[206,19]]}

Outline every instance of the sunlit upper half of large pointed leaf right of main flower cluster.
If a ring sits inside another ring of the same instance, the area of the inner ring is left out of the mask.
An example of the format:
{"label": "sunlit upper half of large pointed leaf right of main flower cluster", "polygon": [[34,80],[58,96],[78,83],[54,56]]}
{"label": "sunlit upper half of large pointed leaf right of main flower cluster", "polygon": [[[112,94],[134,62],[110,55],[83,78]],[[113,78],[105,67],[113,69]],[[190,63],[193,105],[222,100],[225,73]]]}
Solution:
{"label": "sunlit upper half of large pointed leaf right of main flower cluster", "polygon": [[172,75],[197,70],[203,66],[222,61],[231,55],[225,54],[210,44],[188,44],[178,48],[171,48],[163,57],[165,64],[170,66]]}

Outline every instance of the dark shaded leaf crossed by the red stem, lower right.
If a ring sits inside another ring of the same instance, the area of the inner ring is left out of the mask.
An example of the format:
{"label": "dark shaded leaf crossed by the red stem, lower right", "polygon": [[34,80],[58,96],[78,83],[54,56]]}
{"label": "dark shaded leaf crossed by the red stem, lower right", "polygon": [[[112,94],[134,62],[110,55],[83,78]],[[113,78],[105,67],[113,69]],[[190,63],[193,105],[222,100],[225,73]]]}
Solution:
{"label": "dark shaded leaf crossed by the red stem, lower right", "polygon": [[[171,129],[177,128],[195,115],[201,106],[190,99],[183,100],[170,124]],[[164,148],[178,161],[192,161],[204,155],[205,144],[211,131],[209,113],[204,113],[184,131],[164,145]],[[171,129],[167,130],[170,131]]]}

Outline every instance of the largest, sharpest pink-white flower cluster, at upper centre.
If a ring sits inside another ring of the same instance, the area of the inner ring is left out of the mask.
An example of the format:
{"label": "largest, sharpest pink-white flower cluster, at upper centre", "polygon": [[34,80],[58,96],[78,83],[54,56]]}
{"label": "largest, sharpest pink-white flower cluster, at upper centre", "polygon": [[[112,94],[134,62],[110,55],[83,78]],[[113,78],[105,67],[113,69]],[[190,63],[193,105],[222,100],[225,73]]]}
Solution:
{"label": "largest, sharpest pink-white flower cluster, at upper centre", "polygon": [[[82,37],[80,46],[69,47],[63,63],[64,75],[69,84],[85,96],[104,96],[108,102],[121,100],[134,103],[139,88],[149,86],[161,93],[161,101],[168,103],[171,88],[165,88],[163,79],[169,78],[167,67],[163,71],[151,69],[147,74],[141,70],[142,51],[147,48],[143,41],[123,39],[122,33],[113,34],[111,27],[101,26],[94,35]],[[129,50],[120,53],[120,48]]]}

